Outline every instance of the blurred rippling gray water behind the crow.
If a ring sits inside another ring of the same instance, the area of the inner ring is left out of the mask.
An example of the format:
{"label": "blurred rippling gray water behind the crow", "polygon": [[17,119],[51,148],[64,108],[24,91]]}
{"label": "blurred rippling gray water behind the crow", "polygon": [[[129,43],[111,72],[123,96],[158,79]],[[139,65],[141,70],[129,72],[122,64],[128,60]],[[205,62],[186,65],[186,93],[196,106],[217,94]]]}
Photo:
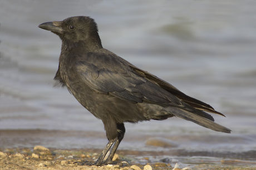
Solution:
{"label": "blurred rippling gray water behind the crow", "polygon": [[[1,1],[0,148],[103,148],[103,124],[53,87],[61,41],[38,24],[91,16],[105,48],[227,116],[126,123],[119,149],[256,159],[255,1]],[[152,138],[176,147],[146,146]],[[176,151],[176,152],[175,152]],[[179,152],[178,152],[179,151]]]}

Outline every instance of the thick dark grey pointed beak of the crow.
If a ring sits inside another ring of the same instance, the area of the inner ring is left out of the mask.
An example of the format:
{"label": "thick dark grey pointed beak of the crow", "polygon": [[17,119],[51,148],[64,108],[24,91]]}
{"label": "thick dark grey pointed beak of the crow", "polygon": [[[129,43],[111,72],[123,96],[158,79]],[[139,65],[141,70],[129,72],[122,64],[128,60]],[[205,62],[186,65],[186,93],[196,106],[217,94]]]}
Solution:
{"label": "thick dark grey pointed beak of the crow", "polygon": [[42,29],[46,29],[53,33],[63,34],[64,30],[61,27],[62,21],[53,21],[53,22],[45,22],[41,23],[38,27]]}

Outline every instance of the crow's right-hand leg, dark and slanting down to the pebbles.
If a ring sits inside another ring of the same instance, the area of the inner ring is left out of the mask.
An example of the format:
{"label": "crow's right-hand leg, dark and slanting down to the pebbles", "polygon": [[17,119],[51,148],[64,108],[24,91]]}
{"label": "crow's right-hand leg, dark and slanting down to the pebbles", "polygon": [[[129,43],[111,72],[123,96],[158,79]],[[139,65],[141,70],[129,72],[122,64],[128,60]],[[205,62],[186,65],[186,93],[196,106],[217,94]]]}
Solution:
{"label": "crow's right-hand leg, dark and slanting down to the pebbles", "polygon": [[112,159],[114,157],[114,154],[116,153],[116,149],[119,146],[120,142],[122,141],[122,138],[125,136],[125,125],[124,123],[118,123],[117,126],[117,140],[113,146],[113,148],[110,151],[109,156],[106,158],[106,160],[103,162],[104,164],[111,164]]}

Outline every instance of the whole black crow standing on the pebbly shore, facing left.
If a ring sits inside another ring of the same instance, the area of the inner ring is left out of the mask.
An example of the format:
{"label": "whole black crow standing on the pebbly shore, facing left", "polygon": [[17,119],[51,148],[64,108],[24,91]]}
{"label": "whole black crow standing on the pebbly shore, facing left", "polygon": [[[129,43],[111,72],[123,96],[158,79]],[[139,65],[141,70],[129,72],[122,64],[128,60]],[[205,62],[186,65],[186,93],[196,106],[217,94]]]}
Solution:
{"label": "whole black crow standing on the pebbly shore, facing left", "polygon": [[[103,48],[92,18],[70,17],[38,27],[57,34],[62,41],[55,79],[104,123],[109,142],[94,163],[97,166],[112,162],[124,138],[124,122],[175,116],[214,131],[230,133],[230,129],[214,123],[213,117],[206,113],[224,116],[209,104],[187,96],[168,82]],[[106,157],[108,151],[110,154]]]}

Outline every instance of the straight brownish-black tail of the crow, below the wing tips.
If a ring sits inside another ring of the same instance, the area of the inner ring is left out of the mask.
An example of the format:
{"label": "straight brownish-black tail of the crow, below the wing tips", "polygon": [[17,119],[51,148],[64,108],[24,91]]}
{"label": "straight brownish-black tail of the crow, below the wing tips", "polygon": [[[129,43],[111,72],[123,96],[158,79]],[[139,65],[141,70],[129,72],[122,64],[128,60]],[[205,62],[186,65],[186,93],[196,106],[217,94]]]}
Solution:
{"label": "straight brownish-black tail of the crow, below the wing tips", "polygon": [[[218,131],[218,132],[225,132],[225,133],[231,132],[231,130],[229,128],[221,126],[220,124],[215,123],[208,118],[199,116],[198,114],[185,111],[184,109],[181,109],[178,107],[168,107],[167,109],[169,112],[174,114],[174,116],[183,118],[187,121],[194,122],[196,124],[199,124],[200,126],[203,126],[203,127],[206,127],[206,128],[212,129],[214,131]],[[200,111],[200,112],[202,112],[202,111]]]}

